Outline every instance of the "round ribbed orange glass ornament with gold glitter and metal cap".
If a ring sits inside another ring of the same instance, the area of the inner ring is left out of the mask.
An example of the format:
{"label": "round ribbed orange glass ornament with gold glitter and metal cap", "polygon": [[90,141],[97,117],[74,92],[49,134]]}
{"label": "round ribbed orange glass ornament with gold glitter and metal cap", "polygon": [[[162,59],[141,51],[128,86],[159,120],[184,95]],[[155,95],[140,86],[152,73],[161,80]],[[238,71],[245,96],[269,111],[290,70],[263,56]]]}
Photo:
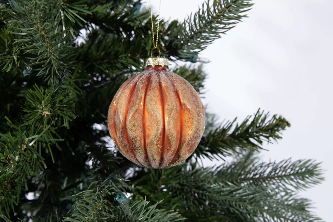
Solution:
{"label": "round ribbed orange glass ornament with gold glitter and metal cap", "polygon": [[166,58],[149,58],[145,70],[125,81],[108,112],[110,135],[130,161],[149,168],[180,164],[198,146],[205,110],[184,78],[167,70]]}

